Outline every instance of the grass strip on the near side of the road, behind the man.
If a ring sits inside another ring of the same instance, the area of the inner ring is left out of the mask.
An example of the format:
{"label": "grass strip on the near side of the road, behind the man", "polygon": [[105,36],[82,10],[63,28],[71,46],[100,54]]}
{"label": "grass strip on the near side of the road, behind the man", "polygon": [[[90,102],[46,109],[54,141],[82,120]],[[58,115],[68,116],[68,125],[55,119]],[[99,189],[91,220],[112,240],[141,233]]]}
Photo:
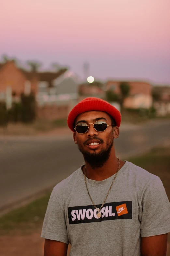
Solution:
{"label": "grass strip on the near side of the road, behind the man", "polygon": [[[129,158],[128,161],[159,176],[170,200],[170,147],[153,149],[147,154]],[[50,192],[26,206],[2,216],[0,218],[0,235],[16,232],[27,234],[41,229],[49,197]]]}

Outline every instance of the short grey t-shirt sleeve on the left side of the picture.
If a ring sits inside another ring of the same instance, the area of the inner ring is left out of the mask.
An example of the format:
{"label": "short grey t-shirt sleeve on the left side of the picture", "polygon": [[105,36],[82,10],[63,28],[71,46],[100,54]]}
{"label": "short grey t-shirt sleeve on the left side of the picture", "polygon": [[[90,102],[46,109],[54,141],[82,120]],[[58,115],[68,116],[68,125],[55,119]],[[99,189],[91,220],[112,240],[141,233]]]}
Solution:
{"label": "short grey t-shirt sleeve on the left side of the picture", "polygon": [[52,191],[44,218],[41,237],[68,244],[65,213],[60,207],[56,191]]}

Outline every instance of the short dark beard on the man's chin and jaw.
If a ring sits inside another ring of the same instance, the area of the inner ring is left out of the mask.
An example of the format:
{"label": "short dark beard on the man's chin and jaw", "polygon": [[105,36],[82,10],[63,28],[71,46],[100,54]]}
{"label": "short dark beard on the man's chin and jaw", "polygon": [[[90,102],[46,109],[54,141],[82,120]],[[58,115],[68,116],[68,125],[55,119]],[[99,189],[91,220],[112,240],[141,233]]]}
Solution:
{"label": "short dark beard on the man's chin and jaw", "polygon": [[101,168],[109,159],[112,146],[113,146],[113,140],[111,141],[111,143],[108,142],[106,144],[106,149],[102,149],[99,153],[96,153],[96,150],[94,150],[94,153],[84,151],[83,149],[80,148],[79,145],[78,145],[78,149],[83,154],[84,160],[88,162],[88,164],[92,167],[92,169],[95,169],[95,168]]}

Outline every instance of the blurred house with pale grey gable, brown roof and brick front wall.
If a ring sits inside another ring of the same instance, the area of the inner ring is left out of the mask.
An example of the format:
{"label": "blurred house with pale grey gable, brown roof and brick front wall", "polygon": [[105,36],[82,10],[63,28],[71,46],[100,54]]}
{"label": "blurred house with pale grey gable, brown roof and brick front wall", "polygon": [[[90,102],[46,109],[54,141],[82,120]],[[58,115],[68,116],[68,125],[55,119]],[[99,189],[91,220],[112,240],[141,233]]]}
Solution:
{"label": "blurred house with pale grey gable, brown roof and brick front wall", "polygon": [[79,79],[70,70],[38,73],[37,117],[47,120],[67,118],[77,104]]}

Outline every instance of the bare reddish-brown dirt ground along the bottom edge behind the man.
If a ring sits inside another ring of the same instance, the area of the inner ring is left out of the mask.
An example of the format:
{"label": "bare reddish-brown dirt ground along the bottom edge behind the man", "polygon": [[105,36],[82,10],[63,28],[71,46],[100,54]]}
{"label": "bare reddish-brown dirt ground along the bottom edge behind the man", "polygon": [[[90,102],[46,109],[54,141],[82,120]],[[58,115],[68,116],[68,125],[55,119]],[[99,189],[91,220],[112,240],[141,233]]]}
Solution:
{"label": "bare reddish-brown dirt ground along the bottom edge behind the man", "polygon": [[[0,236],[1,256],[43,256],[44,239],[40,237],[41,231],[30,235]],[[71,246],[68,247],[67,256]],[[168,234],[167,256],[170,256],[170,233]]]}

